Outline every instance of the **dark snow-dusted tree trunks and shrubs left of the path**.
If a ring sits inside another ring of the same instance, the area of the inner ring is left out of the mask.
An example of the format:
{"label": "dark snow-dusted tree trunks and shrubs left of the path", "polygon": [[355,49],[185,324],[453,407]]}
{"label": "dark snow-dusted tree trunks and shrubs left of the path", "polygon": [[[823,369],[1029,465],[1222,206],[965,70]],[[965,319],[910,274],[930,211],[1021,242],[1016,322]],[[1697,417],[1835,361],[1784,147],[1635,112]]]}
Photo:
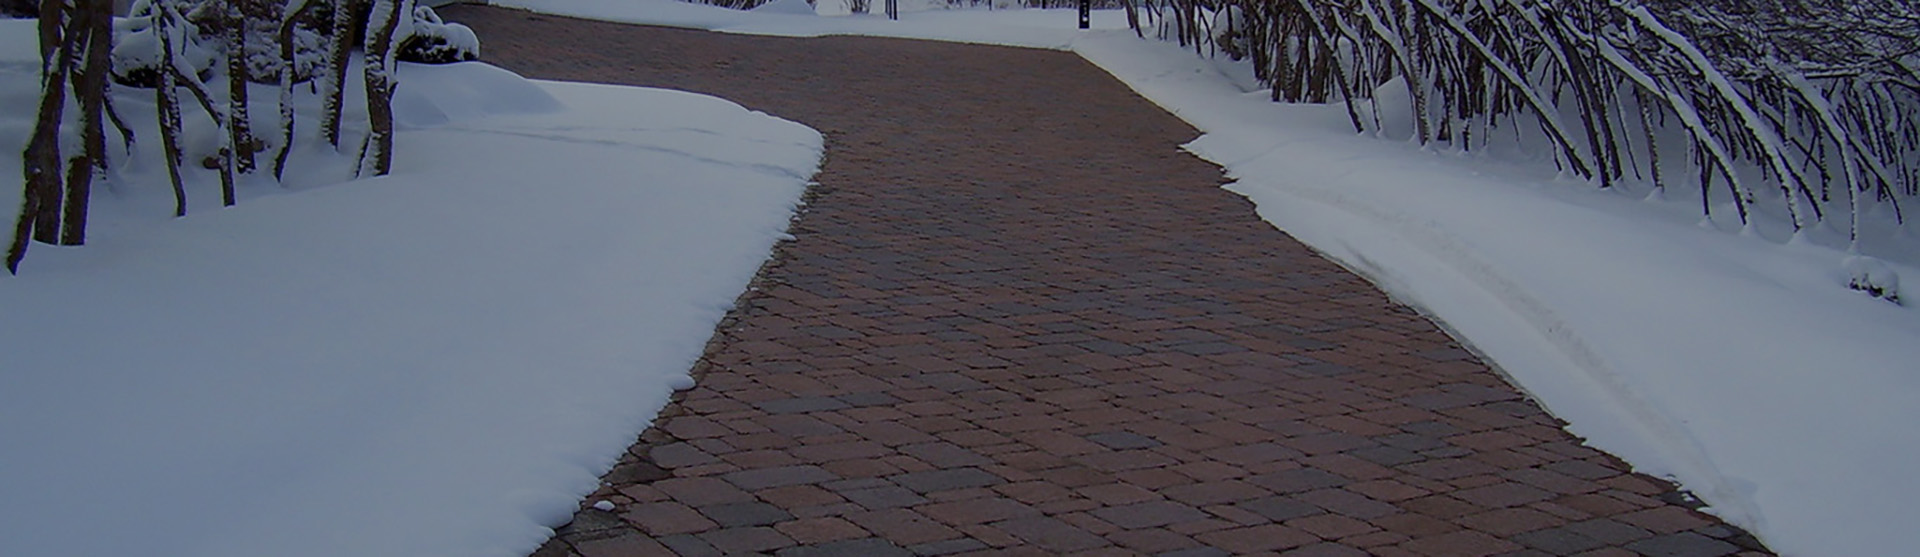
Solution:
{"label": "dark snow-dusted tree trunks and shrubs left of the path", "polygon": [[[23,154],[23,204],[6,252],[10,273],[31,242],[86,242],[92,184],[109,169],[109,136],[132,154],[134,133],[113,106],[113,88],[152,88],[161,152],[186,215],[182,169],[215,169],[221,202],[234,204],[236,177],[271,165],[282,179],[294,146],[298,85],[321,96],[319,136],[355,152],[357,175],[386,175],[394,146],[396,60],[457,61],[478,58],[465,27],[444,25],[411,0],[136,0],[113,17],[111,0],[8,0],[10,13],[38,17],[40,104]],[[344,83],[359,48],[367,83],[369,133],[353,144],[342,133]],[[278,125],[255,133],[248,85],[278,86]],[[182,90],[186,92],[182,96]],[[77,108],[69,115],[67,108]],[[196,109],[194,109],[196,108]],[[186,117],[205,117],[219,131],[211,152],[186,152]],[[111,129],[109,129],[111,125]],[[61,152],[61,134],[79,136],[79,152]]]}

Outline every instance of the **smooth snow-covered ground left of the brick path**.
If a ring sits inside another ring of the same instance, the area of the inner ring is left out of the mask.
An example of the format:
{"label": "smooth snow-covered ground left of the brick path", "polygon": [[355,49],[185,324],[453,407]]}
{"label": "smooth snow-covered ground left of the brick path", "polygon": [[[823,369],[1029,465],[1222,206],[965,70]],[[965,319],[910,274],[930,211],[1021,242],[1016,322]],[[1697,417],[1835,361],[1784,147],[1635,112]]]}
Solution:
{"label": "smooth snow-covered ground left of the brick path", "polygon": [[[6,154],[33,36],[0,21]],[[138,156],[88,246],[0,275],[0,555],[526,555],[691,384],[822,154],[708,96],[399,79],[394,175],[303,150],[221,209],[194,165],[186,219],[121,90]]]}

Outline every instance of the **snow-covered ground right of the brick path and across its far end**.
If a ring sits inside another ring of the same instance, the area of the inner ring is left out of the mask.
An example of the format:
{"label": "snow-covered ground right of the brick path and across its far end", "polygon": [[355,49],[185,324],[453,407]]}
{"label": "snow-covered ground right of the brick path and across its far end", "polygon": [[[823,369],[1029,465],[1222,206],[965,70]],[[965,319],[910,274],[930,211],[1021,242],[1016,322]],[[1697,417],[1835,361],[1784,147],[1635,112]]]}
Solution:
{"label": "snow-covered ground right of the brick path and across its far end", "polygon": [[[887,21],[808,15],[793,0],[758,13],[672,0],[493,4],[1079,52],[1204,131],[1188,150],[1227,167],[1229,188],[1261,217],[1434,315],[1572,432],[1680,480],[1788,555],[1920,545],[1920,311],[1845,290],[1845,242],[1832,230],[1789,242],[1774,219],[1743,234],[1703,225],[1686,192],[1597,190],[1524,154],[1359,136],[1344,109],[1271,104],[1246,90],[1244,67],[1139,40],[1119,12],[1077,31],[1071,10]],[[1920,280],[1920,240],[1876,217],[1864,250]]]}

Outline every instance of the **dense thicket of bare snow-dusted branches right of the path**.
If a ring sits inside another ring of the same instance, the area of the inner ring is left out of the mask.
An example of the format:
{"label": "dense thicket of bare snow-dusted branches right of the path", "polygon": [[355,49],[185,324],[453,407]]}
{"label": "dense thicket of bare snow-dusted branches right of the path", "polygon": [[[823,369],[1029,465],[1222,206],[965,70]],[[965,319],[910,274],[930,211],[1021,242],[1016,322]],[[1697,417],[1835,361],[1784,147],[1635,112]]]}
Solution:
{"label": "dense thicket of bare snow-dusted branches right of the path", "polygon": [[[1405,86],[1421,142],[1536,129],[1601,186],[1690,177],[1741,223],[1774,204],[1845,229],[1920,194],[1920,4],[1910,0],[1137,0],[1135,29],[1248,58],[1281,102]],[[1670,146],[1680,142],[1680,146]],[[1686,159],[1663,159],[1682,148]],[[1684,165],[1686,173],[1663,173]]]}

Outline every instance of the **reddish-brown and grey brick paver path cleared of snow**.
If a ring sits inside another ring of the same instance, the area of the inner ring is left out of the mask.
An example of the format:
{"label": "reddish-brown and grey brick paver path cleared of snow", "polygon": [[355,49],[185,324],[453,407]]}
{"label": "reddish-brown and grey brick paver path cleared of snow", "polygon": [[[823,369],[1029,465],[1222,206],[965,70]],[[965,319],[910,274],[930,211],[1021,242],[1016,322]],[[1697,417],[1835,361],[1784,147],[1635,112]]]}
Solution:
{"label": "reddish-brown and grey brick paver path cleared of snow", "polygon": [[795,240],[589,499],[614,511],[536,555],[1764,555],[1073,54],[444,15],[530,77],[828,134]]}

